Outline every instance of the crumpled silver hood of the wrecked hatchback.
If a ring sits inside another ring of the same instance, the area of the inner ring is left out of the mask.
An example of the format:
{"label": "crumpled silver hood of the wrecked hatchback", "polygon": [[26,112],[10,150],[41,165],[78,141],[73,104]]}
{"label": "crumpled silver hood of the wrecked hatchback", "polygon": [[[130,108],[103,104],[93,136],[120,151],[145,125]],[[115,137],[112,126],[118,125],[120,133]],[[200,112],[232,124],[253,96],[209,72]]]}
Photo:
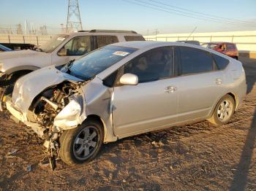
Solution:
{"label": "crumpled silver hood of the wrecked hatchback", "polygon": [[27,112],[34,98],[47,87],[61,82],[81,82],[82,79],[63,73],[55,66],[33,71],[18,79],[12,93],[12,103],[20,112]]}

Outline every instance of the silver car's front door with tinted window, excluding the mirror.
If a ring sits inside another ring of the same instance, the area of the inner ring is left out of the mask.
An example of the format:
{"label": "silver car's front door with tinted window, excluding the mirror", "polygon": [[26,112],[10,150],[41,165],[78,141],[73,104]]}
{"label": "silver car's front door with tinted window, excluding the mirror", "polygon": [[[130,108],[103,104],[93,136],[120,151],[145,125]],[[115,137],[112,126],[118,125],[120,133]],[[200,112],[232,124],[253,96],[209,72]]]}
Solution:
{"label": "silver car's front door with tinted window, excluding the mirror", "polygon": [[136,74],[139,83],[114,87],[116,136],[143,133],[176,122],[178,82],[173,59],[173,47],[160,47],[125,64],[122,74]]}

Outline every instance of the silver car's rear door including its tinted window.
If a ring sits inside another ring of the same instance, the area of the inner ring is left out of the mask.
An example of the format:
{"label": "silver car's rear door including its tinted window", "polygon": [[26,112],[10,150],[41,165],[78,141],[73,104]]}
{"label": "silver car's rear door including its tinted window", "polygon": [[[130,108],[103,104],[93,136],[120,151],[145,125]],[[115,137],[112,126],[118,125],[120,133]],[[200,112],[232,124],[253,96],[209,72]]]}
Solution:
{"label": "silver car's rear door including its tinted window", "polygon": [[207,51],[192,47],[178,50],[178,121],[206,117],[222,95],[222,71]]}

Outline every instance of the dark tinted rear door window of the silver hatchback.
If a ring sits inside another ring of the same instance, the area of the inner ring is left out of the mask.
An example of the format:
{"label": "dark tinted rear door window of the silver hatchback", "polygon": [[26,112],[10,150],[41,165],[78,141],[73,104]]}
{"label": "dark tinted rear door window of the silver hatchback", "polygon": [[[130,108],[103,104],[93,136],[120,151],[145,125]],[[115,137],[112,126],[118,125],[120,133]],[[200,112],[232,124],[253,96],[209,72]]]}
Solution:
{"label": "dark tinted rear door window of the silver hatchback", "polygon": [[210,53],[192,47],[180,47],[181,75],[197,74],[214,70],[214,61]]}

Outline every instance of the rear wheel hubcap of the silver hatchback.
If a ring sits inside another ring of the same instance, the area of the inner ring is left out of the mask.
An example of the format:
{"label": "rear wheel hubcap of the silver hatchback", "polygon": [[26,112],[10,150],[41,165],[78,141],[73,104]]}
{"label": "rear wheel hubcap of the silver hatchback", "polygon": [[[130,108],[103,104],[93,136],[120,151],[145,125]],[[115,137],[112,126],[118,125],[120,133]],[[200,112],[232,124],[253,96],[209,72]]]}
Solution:
{"label": "rear wheel hubcap of the silver hatchback", "polygon": [[233,104],[228,100],[222,101],[222,104],[219,105],[217,112],[219,120],[222,122],[227,121],[230,118],[232,111]]}

